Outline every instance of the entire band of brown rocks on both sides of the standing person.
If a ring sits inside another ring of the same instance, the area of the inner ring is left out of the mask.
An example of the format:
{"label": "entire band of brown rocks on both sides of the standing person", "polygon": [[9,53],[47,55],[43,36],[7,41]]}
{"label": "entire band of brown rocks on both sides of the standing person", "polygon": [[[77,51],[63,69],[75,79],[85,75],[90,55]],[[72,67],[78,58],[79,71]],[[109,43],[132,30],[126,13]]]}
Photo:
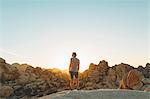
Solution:
{"label": "entire band of brown rocks on both sides of the standing person", "polygon": [[[130,73],[130,76],[126,76]],[[79,73],[80,89],[117,89],[129,86],[134,90],[150,91],[150,64],[134,68],[121,63],[110,67],[105,60],[91,63]],[[69,75],[59,69],[42,69],[28,64],[12,65],[0,58],[0,97],[41,97],[69,89]]]}

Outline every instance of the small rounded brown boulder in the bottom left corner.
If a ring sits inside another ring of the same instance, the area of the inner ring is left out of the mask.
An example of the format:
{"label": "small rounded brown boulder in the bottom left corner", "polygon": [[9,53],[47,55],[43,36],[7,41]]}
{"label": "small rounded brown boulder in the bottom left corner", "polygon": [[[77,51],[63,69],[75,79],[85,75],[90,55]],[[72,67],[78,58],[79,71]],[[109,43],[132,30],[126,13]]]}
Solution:
{"label": "small rounded brown boulder in the bottom left corner", "polygon": [[9,97],[13,94],[14,90],[10,86],[1,86],[0,87],[0,97]]}

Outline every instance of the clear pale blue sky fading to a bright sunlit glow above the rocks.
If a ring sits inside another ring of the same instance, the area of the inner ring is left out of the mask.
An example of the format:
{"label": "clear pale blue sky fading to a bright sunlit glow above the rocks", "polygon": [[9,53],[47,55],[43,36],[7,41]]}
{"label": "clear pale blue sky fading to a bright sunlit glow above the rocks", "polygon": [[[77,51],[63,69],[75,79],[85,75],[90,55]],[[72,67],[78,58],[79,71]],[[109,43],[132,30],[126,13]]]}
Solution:
{"label": "clear pale blue sky fading to a bright sunlit glow above the rocks", "polygon": [[106,60],[150,62],[149,0],[0,0],[0,57],[67,69],[77,52],[81,71]]}

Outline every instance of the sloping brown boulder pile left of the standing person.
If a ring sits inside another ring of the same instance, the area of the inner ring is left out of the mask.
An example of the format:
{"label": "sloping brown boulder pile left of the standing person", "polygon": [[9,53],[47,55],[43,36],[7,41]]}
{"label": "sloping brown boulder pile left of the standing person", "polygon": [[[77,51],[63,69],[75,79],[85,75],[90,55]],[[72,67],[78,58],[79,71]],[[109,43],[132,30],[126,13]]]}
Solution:
{"label": "sloping brown boulder pile left of the standing person", "polygon": [[[10,65],[0,58],[0,97],[40,97],[68,89],[69,79],[55,74],[51,70],[34,68],[28,64]],[[63,75],[61,72],[57,74]]]}

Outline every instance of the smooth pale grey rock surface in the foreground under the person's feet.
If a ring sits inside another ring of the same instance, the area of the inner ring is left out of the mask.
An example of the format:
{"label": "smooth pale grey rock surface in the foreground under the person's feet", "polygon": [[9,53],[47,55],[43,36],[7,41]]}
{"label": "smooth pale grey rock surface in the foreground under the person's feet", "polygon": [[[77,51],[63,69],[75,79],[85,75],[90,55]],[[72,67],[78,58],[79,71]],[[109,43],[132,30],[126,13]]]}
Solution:
{"label": "smooth pale grey rock surface in the foreground under the person's feet", "polygon": [[39,99],[150,99],[150,92],[119,89],[66,90]]}

